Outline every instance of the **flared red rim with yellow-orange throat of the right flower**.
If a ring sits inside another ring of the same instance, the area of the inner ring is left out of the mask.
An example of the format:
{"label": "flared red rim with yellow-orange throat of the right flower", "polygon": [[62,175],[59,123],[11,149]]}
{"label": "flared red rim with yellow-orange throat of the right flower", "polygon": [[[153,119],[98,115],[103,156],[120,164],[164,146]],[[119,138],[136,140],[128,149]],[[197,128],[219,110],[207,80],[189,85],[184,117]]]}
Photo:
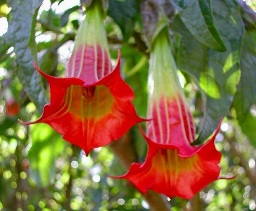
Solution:
{"label": "flared red rim with yellow-orange throat of the right flower", "polygon": [[214,146],[214,136],[190,157],[183,157],[182,149],[171,144],[158,144],[147,139],[148,154],[144,163],[133,163],[128,173],[113,178],[125,178],[142,193],[148,189],[166,194],[193,198],[202,188],[218,179],[221,160]]}

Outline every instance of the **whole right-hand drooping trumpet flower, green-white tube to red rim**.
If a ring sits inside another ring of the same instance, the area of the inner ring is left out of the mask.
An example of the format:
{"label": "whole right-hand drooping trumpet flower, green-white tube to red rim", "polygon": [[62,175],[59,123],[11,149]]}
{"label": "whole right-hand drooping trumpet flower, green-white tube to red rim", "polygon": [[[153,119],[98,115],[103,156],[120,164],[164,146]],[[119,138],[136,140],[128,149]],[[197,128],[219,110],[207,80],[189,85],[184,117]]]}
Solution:
{"label": "whole right-hand drooping trumpet flower, green-white tube to red rim", "polygon": [[123,176],[142,193],[148,189],[190,199],[219,176],[221,160],[213,137],[202,146],[195,140],[193,117],[181,88],[168,32],[155,38],[148,73],[148,153],[144,163],[133,163]]}

